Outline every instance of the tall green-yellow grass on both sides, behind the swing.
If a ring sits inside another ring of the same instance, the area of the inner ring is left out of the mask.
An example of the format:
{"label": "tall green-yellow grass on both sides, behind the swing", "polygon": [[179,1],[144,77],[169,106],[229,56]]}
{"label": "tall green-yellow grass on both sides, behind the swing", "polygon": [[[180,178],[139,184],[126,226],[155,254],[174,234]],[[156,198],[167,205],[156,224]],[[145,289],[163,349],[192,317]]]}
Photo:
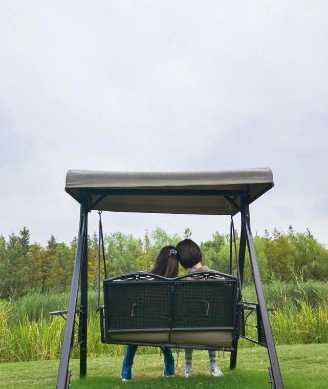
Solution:
{"label": "tall green-yellow grass on both sides, behind the swing", "polygon": [[[255,301],[255,290],[244,288],[243,299]],[[328,282],[295,279],[293,283],[273,280],[264,284],[277,344],[328,343]],[[60,356],[64,320],[49,316],[64,309],[69,293],[30,292],[18,300],[0,300],[0,362],[57,359]],[[124,346],[100,342],[97,294],[89,291],[88,355],[123,355]],[[255,336],[250,327],[248,335]],[[241,341],[240,347],[253,343]],[[141,353],[158,353],[154,347],[141,347]],[[78,347],[72,357],[78,357]]]}

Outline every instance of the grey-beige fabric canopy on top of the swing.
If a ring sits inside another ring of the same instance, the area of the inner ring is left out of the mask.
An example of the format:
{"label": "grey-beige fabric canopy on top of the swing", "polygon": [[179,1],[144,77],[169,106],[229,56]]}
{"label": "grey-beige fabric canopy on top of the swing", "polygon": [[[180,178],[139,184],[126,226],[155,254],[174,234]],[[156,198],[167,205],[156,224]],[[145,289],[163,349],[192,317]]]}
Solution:
{"label": "grey-beige fabric canopy on top of the swing", "polygon": [[[65,191],[78,202],[83,193],[89,195],[91,209],[100,206],[103,211],[229,215],[226,195],[240,206],[238,191],[247,191],[252,202],[273,185],[269,168],[207,172],[69,170]],[[100,203],[92,206],[100,196]]]}

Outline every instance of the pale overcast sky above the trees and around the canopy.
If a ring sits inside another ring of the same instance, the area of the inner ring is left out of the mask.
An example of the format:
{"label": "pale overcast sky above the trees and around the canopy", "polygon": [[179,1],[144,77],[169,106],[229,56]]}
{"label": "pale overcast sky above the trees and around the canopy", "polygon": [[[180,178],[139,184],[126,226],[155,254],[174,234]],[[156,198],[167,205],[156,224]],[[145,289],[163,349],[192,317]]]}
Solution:
{"label": "pale overcast sky above the trees and around the canopy", "polygon": [[[0,234],[70,242],[69,169],[270,167],[253,232],[328,244],[328,3],[5,1],[0,6]],[[91,230],[97,214],[91,214]],[[201,241],[226,216],[107,213]]]}

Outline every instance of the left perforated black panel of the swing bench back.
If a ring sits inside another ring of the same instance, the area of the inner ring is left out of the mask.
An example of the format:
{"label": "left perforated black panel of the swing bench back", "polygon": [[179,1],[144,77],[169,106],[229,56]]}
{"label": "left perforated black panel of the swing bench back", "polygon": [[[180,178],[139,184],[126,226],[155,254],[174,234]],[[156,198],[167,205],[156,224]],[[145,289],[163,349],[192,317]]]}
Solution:
{"label": "left perforated black panel of the swing bench back", "polygon": [[169,329],[167,282],[108,282],[104,288],[108,330]]}

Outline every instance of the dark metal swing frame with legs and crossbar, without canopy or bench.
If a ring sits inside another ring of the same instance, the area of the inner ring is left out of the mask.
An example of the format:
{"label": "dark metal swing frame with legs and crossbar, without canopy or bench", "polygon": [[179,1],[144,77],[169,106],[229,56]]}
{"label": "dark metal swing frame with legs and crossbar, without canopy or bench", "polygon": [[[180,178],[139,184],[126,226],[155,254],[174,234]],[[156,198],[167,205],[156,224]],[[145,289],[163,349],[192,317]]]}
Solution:
{"label": "dark metal swing frame with legs and crossbar, without canopy or bench", "polygon": [[[271,171],[270,171],[271,172]],[[271,182],[270,188],[273,186]],[[267,191],[267,188],[265,191]],[[66,189],[70,192],[68,189]],[[265,191],[260,193],[263,194]],[[249,204],[255,198],[251,198],[249,186],[246,185],[243,189],[215,189],[215,190],[198,190],[198,189],[102,189],[102,188],[82,188],[78,190],[78,196],[75,193],[70,193],[75,199],[80,202],[80,221],[77,236],[77,247],[74,261],[73,278],[71,285],[71,293],[69,299],[69,306],[67,310],[67,318],[65,321],[64,338],[62,342],[62,350],[59,362],[59,371],[57,378],[57,389],[68,389],[70,384],[71,371],[69,370],[70,351],[72,346],[72,339],[74,337],[74,329],[76,323],[76,314],[79,314],[79,341],[77,345],[80,347],[80,377],[86,376],[86,354],[87,354],[87,312],[88,312],[88,215],[91,210],[97,209],[98,203],[103,201],[106,196],[221,196],[225,198],[228,206],[233,207],[234,214],[240,213],[241,217],[241,231],[239,240],[239,252],[237,254],[233,220],[231,219],[231,236],[234,237],[234,250],[236,257],[237,279],[238,279],[238,299],[237,304],[242,306],[242,323],[240,329],[240,336],[247,340],[253,341],[259,345],[265,346],[268,350],[270,367],[268,368],[270,374],[271,387],[276,389],[282,389],[282,379],[280,374],[279,362],[277,358],[276,348],[272,335],[268,308],[261,284],[261,278],[257,263],[257,257],[254,249],[253,236],[250,225],[250,210]],[[96,198],[96,200],[94,200]],[[238,199],[238,201],[236,200]],[[135,211],[138,212],[138,211]],[[141,211],[142,212],[142,211]],[[154,211],[153,211],[154,212]],[[181,212],[184,213],[184,212]],[[189,212],[191,213],[191,212]],[[102,235],[101,222],[99,225],[99,233]],[[231,237],[232,239],[232,237]],[[103,248],[102,248],[103,249]],[[257,303],[246,303],[242,301],[242,286],[245,267],[245,253],[246,249],[249,253],[250,264],[253,274],[253,280],[256,290]],[[104,250],[104,249],[103,249]],[[231,245],[232,251],[232,245]],[[231,254],[232,260],[232,254]],[[100,262],[100,241],[99,241],[99,262]],[[232,269],[232,265],[231,265]],[[98,279],[100,274],[98,273]],[[77,311],[77,298],[80,289],[80,304]],[[102,311],[102,310],[101,310]],[[257,326],[258,326],[258,339],[250,339],[245,334],[247,315],[245,311],[256,311]],[[66,312],[61,312],[61,314]],[[53,313],[56,314],[56,313]],[[102,312],[100,312],[102,314]],[[232,351],[230,355],[230,368],[235,368],[237,361],[238,341],[233,341]]]}

